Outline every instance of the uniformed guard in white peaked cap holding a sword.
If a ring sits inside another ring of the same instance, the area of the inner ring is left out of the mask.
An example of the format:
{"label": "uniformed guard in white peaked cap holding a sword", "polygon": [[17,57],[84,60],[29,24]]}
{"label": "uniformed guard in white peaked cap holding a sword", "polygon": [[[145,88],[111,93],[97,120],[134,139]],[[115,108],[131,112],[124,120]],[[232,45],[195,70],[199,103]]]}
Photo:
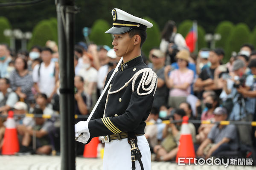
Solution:
{"label": "uniformed guard in white peaked cap holding a sword", "polygon": [[151,155],[144,128],[157,85],[157,75],[145,65],[141,46],[146,28],[153,25],[118,8],[112,10],[116,56],[123,57],[119,68],[108,73],[111,83],[99,102],[92,119],[75,125],[79,142],[88,143],[96,136],[105,142],[104,170],[150,170]]}

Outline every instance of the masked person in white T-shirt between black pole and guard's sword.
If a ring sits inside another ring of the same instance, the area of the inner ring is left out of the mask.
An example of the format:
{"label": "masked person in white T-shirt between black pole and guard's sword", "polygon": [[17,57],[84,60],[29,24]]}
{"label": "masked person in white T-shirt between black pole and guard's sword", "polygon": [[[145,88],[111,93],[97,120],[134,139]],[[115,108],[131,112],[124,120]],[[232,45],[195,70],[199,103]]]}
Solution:
{"label": "masked person in white T-shirt between black pole and guard's sword", "polygon": [[[98,71],[93,68],[93,57],[87,52],[83,55],[83,64],[79,70],[78,76],[84,79],[84,92],[87,100],[92,101],[92,105],[96,103],[96,87],[97,87],[97,75]],[[87,106],[87,109],[91,109],[91,106]]]}

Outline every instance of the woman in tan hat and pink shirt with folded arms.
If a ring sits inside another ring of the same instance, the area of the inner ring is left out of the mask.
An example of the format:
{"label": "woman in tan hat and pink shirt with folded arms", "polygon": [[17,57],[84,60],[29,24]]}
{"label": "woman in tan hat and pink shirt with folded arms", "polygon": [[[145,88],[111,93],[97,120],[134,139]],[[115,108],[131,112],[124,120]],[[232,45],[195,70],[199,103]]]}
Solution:
{"label": "woman in tan hat and pink shirt with folded arms", "polygon": [[194,72],[187,68],[189,51],[179,51],[176,58],[178,69],[173,70],[168,76],[171,67],[166,66],[165,68],[166,85],[170,89],[168,105],[172,108],[178,108],[180,103],[186,102],[186,97],[191,93],[191,84],[194,78]]}

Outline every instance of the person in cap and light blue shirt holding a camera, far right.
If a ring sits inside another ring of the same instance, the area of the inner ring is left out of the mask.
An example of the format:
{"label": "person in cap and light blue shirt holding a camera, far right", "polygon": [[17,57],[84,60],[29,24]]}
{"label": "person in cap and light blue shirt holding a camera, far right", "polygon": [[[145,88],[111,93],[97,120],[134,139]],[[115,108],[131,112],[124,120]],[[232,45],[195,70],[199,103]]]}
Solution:
{"label": "person in cap and light blue shirt holding a camera, far right", "polygon": [[[231,95],[233,109],[229,115],[229,120],[232,121],[253,121],[255,112],[256,98],[243,96],[239,92],[239,88],[244,88],[249,91],[253,86],[253,75],[245,74],[246,66],[244,62],[237,59],[233,62],[233,72],[235,74],[232,82],[232,88],[227,89],[227,83],[224,83],[224,90]],[[225,82],[225,81],[224,81]],[[238,125],[239,137],[243,144],[252,145],[251,126]],[[247,131],[247,133],[244,133]]]}

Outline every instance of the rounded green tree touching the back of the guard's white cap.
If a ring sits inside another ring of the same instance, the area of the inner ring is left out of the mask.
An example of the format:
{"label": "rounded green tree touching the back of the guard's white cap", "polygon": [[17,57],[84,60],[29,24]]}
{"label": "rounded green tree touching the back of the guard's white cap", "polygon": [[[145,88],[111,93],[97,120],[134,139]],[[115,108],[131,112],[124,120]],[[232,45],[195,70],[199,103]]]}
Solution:
{"label": "rounded green tree touching the back of the guard's white cap", "polygon": [[161,35],[160,35],[160,29],[158,24],[152,20],[149,17],[144,17],[143,19],[148,20],[150,23],[153,24],[152,28],[147,29],[147,39],[145,40],[143,46],[142,46],[142,51],[148,57],[149,51],[154,48],[154,47],[159,47],[160,40],[161,40]]}

